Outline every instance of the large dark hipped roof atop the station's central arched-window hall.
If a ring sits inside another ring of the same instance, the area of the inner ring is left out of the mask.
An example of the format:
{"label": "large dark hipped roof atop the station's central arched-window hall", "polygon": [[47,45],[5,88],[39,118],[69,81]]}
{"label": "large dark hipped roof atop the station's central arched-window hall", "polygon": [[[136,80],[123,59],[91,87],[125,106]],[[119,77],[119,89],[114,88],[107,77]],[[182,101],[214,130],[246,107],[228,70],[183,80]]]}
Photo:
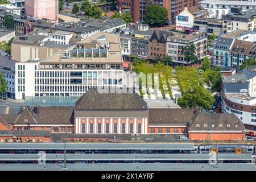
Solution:
{"label": "large dark hipped roof atop the station's central arched-window hall", "polygon": [[[103,89],[102,89],[103,90]],[[76,110],[148,110],[146,102],[137,93],[104,93],[97,88],[89,89],[75,104]]]}

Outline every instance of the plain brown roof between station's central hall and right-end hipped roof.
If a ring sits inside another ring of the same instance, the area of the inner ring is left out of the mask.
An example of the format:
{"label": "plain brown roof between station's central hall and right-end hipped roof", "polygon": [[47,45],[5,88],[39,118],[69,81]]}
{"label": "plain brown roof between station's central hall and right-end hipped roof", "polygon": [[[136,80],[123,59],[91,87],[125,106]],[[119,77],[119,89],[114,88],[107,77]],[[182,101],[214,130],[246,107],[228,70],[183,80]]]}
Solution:
{"label": "plain brown roof between station's central hall and right-end hipped roof", "polygon": [[149,109],[150,125],[187,124],[196,109]]}

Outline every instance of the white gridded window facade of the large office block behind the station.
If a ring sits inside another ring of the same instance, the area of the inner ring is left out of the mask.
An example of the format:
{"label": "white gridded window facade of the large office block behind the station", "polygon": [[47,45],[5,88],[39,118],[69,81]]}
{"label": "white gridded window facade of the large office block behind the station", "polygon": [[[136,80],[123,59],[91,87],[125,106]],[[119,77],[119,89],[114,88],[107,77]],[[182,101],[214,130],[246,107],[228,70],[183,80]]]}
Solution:
{"label": "white gridded window facade of the large office block behind the station", "polygon": [[123,86],[122,69],[52,69],[32,61],[16,63],[15,70],[17,100],[27,96],[81,97],[92,87]]}

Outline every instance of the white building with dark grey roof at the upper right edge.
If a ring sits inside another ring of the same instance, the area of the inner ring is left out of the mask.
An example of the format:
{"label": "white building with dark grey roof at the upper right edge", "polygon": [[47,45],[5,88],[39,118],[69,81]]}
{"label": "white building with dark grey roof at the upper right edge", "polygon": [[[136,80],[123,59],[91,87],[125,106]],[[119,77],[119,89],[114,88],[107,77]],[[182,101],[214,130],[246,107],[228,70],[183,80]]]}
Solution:
{"label": "white building with dark grey roof at the upper right edge", "polygon": [[[254,2],[256,5],[256,2]],[[229,33],[233,30],[254,30],[256,10],[242,11],[241,7],[232,7],[231,12],[222,16],[223,33]]]}

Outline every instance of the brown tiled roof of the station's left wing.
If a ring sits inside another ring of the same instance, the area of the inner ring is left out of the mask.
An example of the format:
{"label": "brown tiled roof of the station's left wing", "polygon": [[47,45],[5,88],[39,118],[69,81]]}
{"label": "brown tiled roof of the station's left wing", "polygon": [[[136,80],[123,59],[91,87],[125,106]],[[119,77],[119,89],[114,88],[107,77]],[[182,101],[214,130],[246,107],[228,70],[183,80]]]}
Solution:
{"label": "brown tiled roof of the station's left wing", "polygon": [[[24,107],[19,114],[0,114],[0,119],[11,124],[72,124],[73,107]],[[0,120],[1,121],[1,120]]]}

